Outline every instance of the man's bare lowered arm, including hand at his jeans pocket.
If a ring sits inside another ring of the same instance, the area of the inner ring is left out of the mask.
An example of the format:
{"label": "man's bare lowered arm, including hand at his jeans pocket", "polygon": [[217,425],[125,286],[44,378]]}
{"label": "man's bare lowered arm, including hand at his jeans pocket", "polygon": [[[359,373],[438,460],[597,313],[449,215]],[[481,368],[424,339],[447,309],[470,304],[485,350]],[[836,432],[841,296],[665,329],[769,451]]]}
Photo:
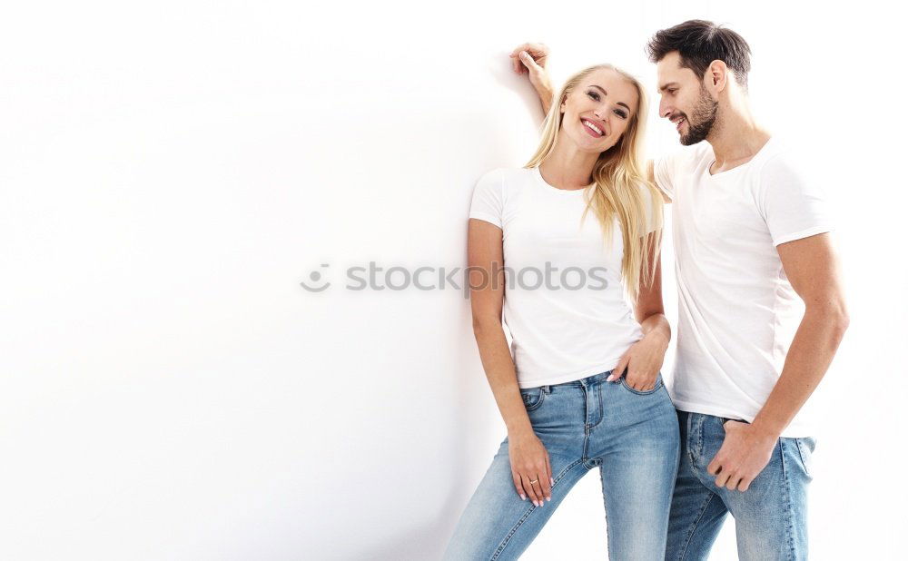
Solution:
{"label": "man's bare lowered arm, including hand at his jeans pocket", "polygon": [[747,490],[763,471],[779,435],[795,418],[833,360],[848,312],[838,259],[828,233],[776,247],[785,275],[804,300],[804,318],[795,333],[782,374],[750,425],[725,423],[725,442],[707,471],[716,485]]}

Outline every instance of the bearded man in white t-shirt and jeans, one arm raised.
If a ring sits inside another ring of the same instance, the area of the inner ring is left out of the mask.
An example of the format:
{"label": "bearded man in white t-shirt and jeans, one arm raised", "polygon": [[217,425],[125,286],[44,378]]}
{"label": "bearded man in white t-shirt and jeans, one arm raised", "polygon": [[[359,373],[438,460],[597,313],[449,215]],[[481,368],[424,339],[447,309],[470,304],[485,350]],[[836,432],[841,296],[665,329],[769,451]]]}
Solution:
{"label": "bearded man in white t-shirt and jeans, one arm raised", "polygon": [[[659,114],[690,146],[648,164],[673,202],[679,308],[666,559],[706,559],[729,512],[741,559],[805,559],[814,428],[801,408],[848,326],[832,223],[801,162],[755,121],[739,34],[692,20],[647,51]],[[511,56],[548,112],[548,48]]]}

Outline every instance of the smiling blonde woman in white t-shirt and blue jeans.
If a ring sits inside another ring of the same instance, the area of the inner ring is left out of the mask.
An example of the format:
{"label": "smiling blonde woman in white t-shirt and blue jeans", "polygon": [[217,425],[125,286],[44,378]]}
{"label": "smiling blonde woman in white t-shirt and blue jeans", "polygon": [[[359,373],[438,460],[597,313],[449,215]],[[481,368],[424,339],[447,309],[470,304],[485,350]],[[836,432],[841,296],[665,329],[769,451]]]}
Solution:
{"label": "smiling blonde woman in white t-shirt and blue jeans", "polygon": [[661,560],[678,425],[659,372],[671,334],[662,197],[640,164],[646,96],[599,64],[555,102],[528,164],[486,173],[473,193],[473,331],[508,436],[445,558],[518,558],[598,467],[609,557]]}

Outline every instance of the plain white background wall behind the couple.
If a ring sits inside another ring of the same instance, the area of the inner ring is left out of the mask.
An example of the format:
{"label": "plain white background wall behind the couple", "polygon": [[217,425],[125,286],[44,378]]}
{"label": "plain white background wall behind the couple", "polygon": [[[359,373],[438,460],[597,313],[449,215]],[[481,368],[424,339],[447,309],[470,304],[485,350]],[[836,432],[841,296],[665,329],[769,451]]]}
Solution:
{"label": "plain white background wall behind the couple", "polygon": [[[344,271],[465,265],[474,182],[537,144],[513,46],[549,44],[558,83],[618,64],[655,109],[646,39],[693,17],[745,36],[755,113],[838,210],[852,323],[814,399],[812,558],[903,555],[905,33],[882,3],[183,0],[0,18],[0,558],[440,556],[505,436],[469,301]],[[669,242],[674,321],[671,271]],[[524,558],[571,556],[606,556],[595,473]]]}

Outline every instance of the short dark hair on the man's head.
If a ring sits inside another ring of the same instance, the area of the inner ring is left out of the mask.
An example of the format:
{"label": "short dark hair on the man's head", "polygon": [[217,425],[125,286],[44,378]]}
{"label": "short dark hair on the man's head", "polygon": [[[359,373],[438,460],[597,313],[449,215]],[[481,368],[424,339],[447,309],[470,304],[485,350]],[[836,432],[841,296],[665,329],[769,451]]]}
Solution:
{"label": "short dark hair on the man's head", "polygon": [[702,19],[692,19],[657,31],[646,44],[646,54],[652,63],[659,62],[674,51],[681,55],[681,67],[690,68],[699,78],[703,78],[713,61],[722,61],[735,72],[737,83],[747,89],[750,46],[744,37],[731,29]]}

